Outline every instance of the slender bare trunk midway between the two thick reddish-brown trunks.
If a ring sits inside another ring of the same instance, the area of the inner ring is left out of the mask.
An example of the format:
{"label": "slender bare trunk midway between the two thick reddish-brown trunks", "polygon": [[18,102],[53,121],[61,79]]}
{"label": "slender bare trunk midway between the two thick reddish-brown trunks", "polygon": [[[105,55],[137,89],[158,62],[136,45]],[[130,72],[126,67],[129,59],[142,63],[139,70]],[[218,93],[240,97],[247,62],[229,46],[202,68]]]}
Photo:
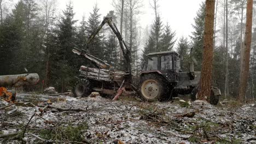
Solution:
{"label": "slender bare trunk midway between the two thick reddish-brown trunks", "polygon": [[228,49],[228,0],[226,0],[226,76],[225,76],[225,98],[229,95],[229,49]]}

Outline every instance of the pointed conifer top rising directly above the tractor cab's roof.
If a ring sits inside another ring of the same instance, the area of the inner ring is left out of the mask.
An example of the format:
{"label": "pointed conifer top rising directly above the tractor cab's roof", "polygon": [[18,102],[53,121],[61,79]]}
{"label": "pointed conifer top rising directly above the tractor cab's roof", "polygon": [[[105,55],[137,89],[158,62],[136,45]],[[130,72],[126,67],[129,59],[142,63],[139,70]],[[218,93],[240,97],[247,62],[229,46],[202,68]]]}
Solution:
{"label": "pointed conifer top rising directly above the tractor cab's roof", "polygon": [[161,38],[160,51],[171,51],[173,49],[176,42],[176,39],[174,39],[175,35],[176,33],[172,32],[170,26],[166,23],[164,33]]}

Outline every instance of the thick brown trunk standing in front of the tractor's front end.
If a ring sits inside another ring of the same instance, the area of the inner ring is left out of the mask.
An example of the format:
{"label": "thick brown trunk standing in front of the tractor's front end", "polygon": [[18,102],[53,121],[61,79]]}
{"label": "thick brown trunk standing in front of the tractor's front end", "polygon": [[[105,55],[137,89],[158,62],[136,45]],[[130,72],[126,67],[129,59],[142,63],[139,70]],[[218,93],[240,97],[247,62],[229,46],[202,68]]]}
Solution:
{"label": "thick brown trunk standing in front of the tractor's front end", "polygon": [[203,39],[203,62],[198,99],[208,100],[212,86],[213,29],[215,0],[206,0],[205,32]]}

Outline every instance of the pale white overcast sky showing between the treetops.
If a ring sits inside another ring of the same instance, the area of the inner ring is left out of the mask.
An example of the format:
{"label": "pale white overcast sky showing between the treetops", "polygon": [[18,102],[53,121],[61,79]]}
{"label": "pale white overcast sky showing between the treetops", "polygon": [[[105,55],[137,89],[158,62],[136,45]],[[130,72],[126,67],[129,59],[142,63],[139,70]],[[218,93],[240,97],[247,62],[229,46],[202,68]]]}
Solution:
{"label": "pale white overcast sky showing between the treetops", "polygon": [[[59,8],[65,9],[69,0],[59,0]],[[114,10],[112,6],[113,0],[73,0],[75,19],[80,20],[85,15],[86,19],[92,11],[92,7],[97,3],[100,8],[100,14],[106,16],[108,11]],[[150,0],[142,0],[142,14],[139,16],[139,25],[145,28],[153,22],[153,9],[149,6]],[[184,35],[188,37],[193,31],[191,24],[194,22],[196,11],[199,9],[200,3],[204,0],[159,0],[159,11],[162,21],[169,23],[173,31],[176,31],[176,38]]]}

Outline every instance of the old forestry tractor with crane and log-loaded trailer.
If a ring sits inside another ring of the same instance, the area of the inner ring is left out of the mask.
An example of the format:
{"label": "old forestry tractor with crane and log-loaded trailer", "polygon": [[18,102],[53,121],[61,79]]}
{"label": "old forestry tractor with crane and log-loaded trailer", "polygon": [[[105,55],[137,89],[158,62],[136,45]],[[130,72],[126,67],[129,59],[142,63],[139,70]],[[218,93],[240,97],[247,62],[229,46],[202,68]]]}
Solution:
{"label": "old forestry tractor with crane and log-loaded trailer", "polygon": [[[137,93],[141,99],[146,101],[168,100],[177,97],[178,94],[190,94],[191,100],[196,100],[201,72],[194,71],[193,61],[189,64],[188,72],[182,71],[181,57],[174,51],[149,53],[139,76],[139,86],[136,88],[132,84],[130,50],[127,49],[125,41],[111,17],[104,18],[100,27],[89,37],[88,46],[106,23],[117,35],[125,59],[126,70],[113,69],[110,64],[90,55],[85,50],[73,49],[73,53],[84,56],[95,65],[95,68],[83,65],[80,67],[78,82],[73,88],[75,97],[87,97],[92,91],[97,91],[102,95],[116,94],[114,99],[125,92]],[[193,59],[191,51],[190,58]],[[217,105],[220,95],[220,90],[212,87],[210,103]]]}

